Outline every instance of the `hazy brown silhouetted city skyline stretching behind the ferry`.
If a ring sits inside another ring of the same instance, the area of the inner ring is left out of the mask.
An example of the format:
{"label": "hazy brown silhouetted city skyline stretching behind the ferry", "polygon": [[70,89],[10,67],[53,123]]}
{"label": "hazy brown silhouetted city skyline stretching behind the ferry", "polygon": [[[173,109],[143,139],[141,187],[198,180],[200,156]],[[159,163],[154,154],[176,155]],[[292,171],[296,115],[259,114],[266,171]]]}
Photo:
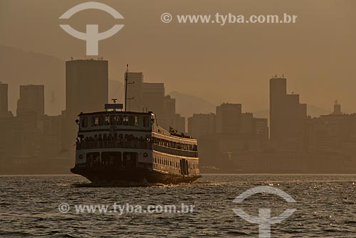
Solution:
{"label": "hazy brown silhouetted city skyline stretching behind the ferry", "polygon": [[[58,116],[44,114],[43,85],[21,85],[19,117],[12,117],[11,113],[5,112],[8,87],[1,84],[3,94],[0,98],[5,103],[1,102],[0,119],[3,124],[9,124],[4,127],[5,134],[19,136],[19,139],[13,139],[18,140],[14,144],[19,148],[14,149],[16,146],[11,147],[9,141],[4,141],[2,153],[9,153],[11,148],[16,151],[12,152],[14,158],[42,158],[46,154],[70,157],[77,127],[73,121],[83,112],[104,112],[104,105],[100,103],[110,100],[109,70],[108,60],[102,58],[66,61],[67,107]],[[151,111],[167,133],[172,128],[182,136],[188,132],[189,136],[197,138],[199,153],[204,158],[201,168],[205,171],[219,168],[236,172],[239,168],[246,173],[300,173],[307,168],[308,173],[318,173],[320,169],[329,171],[338,161],[341,166],[335,169],[341,172],[347,171],[346,165],[356,148],[353,139],[356,113],[343,114],[341,104],[335,101],[333,113],[313,118],[307,116],[307,104],[300,102],[299,94],[288,93],[284,75],[269,79],[270,119],[256,117],[245,109],[244,104],[231,102],[216,106],[215,113],[197,112],[192,117],[182,117],[176,112],[177,100],[165,94],[164,82],[146,82],[143,72],[129,71],[128,65],[125,82],[127,112]],[[108,121],[106,117],[98,119],[98,123]],[[92,125],[97,123],[90,121]],[[316,168],[313,161],[324,157],[328,162],[323,168]],[[271,166],[275,163],[278,163],[276,168]]]}

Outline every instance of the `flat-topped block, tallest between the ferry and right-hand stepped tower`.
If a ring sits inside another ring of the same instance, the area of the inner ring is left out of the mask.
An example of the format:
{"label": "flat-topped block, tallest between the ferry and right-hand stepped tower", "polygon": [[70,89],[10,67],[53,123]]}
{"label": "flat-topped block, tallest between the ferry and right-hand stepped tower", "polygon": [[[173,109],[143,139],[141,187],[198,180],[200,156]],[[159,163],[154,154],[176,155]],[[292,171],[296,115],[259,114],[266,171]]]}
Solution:
{"label": "flat-topped block, tallest between the ferry and right-hand stepped tower", "polygon": [[216,107],[216,133],[241,132],[241,104],[223,103]]}

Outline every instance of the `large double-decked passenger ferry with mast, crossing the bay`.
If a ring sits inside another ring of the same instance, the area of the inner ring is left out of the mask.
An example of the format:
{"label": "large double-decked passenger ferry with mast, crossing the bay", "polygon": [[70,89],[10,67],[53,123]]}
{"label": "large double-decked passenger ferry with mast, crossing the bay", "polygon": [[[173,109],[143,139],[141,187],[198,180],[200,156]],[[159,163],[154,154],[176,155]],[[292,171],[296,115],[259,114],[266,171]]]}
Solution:
{"label": "large double-decked passenger ferry with mast, crossing the bay", "polygon": [[75,167],[70,171],[92,183],[177,184],[201,177],[197,139],[163,129],[152,112],[126,112],[114,102],[105,104],[103,112],[78,117]]}

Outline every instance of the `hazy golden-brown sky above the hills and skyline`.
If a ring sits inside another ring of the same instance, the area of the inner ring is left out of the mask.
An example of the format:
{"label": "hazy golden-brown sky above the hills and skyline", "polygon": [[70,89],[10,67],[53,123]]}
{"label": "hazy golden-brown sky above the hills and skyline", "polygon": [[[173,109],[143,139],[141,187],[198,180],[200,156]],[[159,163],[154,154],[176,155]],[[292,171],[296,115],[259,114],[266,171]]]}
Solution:
{"label": "hazy golden-brown sky above the hills and skyline", "polygon": [[[204,97],[209,102],[242,103],[244,110],[268,108],[268,80],[288,78],[288,92],[301,102],[330,109],[339,99],[345,112],[356,112],[356,1],[100,1],[125,19],[87,10],[69,20],[58,17],[85,1],[1,0],[0,45],[53,55],[85,58],[85,41],[59,26],[85,31],[98,23],[106,31],[125,24],[101,40],[100,56],[110,62],[110,79],[122,80],[126,63],[148,82],[164,82],[166,91]],[[162,23],[174,14],[289,14],[294,24]],[[1,57],[1,56],[0,56]],[[2,59],[4,60],[4,59]],[[64,80],[64,79],[63,79]]]}

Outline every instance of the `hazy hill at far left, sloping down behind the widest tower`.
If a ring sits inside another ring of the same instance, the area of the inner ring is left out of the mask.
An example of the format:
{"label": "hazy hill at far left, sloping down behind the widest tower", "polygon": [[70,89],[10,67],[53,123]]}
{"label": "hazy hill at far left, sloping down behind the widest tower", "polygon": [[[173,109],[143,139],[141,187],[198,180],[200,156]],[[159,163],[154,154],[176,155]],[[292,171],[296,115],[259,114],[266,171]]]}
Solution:
{"label": "hazy hill at far left, sloping down behind the widest tower", "polygon": [[46,114],[65,108],[64,60],[0,45],[0,81],[9,84],[9,110],[16,114],[20,85],[45,85]]}

